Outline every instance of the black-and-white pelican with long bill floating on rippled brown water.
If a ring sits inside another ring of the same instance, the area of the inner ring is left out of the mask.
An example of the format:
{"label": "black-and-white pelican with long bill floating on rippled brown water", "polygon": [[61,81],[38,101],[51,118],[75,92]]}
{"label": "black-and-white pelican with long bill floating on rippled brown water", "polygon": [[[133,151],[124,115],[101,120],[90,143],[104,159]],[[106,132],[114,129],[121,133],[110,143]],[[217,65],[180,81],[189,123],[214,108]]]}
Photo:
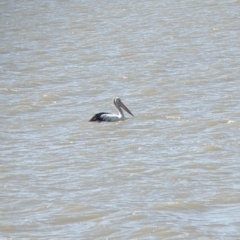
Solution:
{"label": "black-and-white pelican with long bill floating on rippled brown water", "polygon": [[112,113],[107,113],[107,112],[100,112],[95,114],[89,122],[117,122],[117,121],[122,121],[125,119],[123,110],[124,109],[126,112],[133,114],[130,112],[130,110],[122,103],[121,99],[118,97],[113,98],[113,103],[115,107],[118,110],[118,115],[117,114],[112,114]]}

